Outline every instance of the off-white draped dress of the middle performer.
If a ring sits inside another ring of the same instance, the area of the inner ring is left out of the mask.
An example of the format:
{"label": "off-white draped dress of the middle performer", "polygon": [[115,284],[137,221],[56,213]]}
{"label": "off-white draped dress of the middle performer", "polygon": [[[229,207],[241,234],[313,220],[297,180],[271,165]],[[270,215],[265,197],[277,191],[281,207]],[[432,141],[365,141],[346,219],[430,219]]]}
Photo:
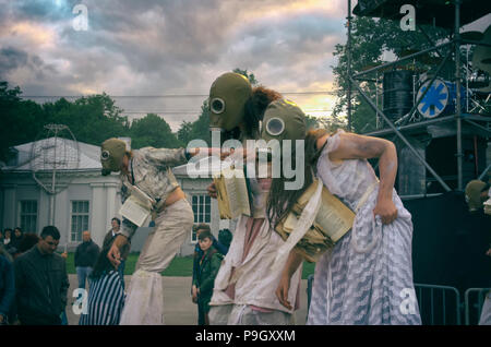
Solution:
{"label": "off-white draped dress of the middle performer", "polygon": [[[256,206],[254,212],[255,216],[265,215],[264,198],[268,190],[262,191],[262,198],[259,199],[260,206]],[[253,218],[239,217],[230,248],[216,276],[208,313],[212,325],[283,325],[291,323],[294,310],[282,306],[275,295],[282,273],[272,271],[276,252],[285,241],[270,227],[267,219],[251,219]],[[247,238],[254,239],[248,241]],[[288,300],[292,304],[298,299],[300,279],[301,268],[294,274],[288,291]],[[228,289],[233,284],[235,290],[230,297]]]}

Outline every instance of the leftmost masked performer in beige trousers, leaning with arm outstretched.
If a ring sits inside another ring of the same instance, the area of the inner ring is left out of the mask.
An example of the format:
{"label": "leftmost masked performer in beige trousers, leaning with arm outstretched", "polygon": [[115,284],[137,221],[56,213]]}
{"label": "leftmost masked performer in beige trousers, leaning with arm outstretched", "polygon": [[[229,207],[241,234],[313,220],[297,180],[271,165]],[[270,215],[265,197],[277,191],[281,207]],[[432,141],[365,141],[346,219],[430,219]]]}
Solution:
{"label": "leftmost masked performer in beige trousers, leaning with arm outstretched", "polygon": [[[185,164],[197,153],[211,148],[153,148],[127,151],[125,142],[109,139],[103,143],[103,175],[120,171],[124,202],[133,187],[154,200],[155,228],[148,235],[133,273],[120,324],[164,324],[160,273],[169,265],[194,223],[193,210],[179,187],[171,168]],[[117,267],[120,250],[137,226],[127,218],[121,223],[108,259]]]}

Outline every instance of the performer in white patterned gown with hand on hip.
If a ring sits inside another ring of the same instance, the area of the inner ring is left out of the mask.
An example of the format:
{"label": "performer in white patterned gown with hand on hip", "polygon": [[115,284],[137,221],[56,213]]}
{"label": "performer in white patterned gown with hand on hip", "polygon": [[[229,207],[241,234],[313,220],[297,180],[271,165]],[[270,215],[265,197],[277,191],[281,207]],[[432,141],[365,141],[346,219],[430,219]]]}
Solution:
{"label": "performer in white patterned gown with hand on hip", "polygon": [[[272,222],[289,214],[314,177],[356,214],[352,228],[316,262],[307,323],[421,324],[412,283],[411,215],[394,190],[394,144],[318,129],[308,132],[304,146],[306,184],[292,193],[282,190],[284,177],[273,180],[267,202]],[[369,158],[380,159],[380,182]],[[312,199],[306,210],[315,211],[321,202]],[[287,292],[296,282],[290,285],[289,278],[301,263],[292,249],[276,291],[285,307],[291,307]]]}

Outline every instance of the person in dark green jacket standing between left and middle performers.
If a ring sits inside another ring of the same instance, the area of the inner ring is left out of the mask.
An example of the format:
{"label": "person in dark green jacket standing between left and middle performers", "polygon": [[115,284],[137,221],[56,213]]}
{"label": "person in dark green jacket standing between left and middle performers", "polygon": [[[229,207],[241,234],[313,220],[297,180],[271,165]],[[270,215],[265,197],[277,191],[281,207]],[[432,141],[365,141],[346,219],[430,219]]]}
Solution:
{"label": "person in dark green jacket standing between left and middle performers", "polygon": [[209,325],[208,311],[209,300],[213,295],[215,277],[220,268],[224,256],[213,247],[213,235],[211,231],[202,231],[197,237],[203,255],[199,262],[196,277],[193,280],[193,301],[197,301],[199,325]]}

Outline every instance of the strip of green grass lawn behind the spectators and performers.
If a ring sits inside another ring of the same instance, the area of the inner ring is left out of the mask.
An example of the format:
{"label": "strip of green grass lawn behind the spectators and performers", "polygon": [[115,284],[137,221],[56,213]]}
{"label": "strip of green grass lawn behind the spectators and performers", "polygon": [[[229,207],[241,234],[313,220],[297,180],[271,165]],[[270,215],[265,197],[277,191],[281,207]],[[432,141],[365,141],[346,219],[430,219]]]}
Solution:
{"label": "strip of green grass lawn behind the spectators and performers", "polygon": [[[127,260],[127,266],[124,267],[124,275],[131,275],[134,272],[136,261],[139,260],[140,253],[130,253]],[[67,259],[67,272],[69,274],[76,274],[74,264],[74,253],[69,253]],[[310,274],[313,274],[315,264],[303,262],[302,278],[307,279]],[[188,277],[192,276],[193,273],[193,258],[188,256],[176,256],[171,262],[169,267],[167,267],[161,274],[163,276],[177,276],[177,277]]]}

